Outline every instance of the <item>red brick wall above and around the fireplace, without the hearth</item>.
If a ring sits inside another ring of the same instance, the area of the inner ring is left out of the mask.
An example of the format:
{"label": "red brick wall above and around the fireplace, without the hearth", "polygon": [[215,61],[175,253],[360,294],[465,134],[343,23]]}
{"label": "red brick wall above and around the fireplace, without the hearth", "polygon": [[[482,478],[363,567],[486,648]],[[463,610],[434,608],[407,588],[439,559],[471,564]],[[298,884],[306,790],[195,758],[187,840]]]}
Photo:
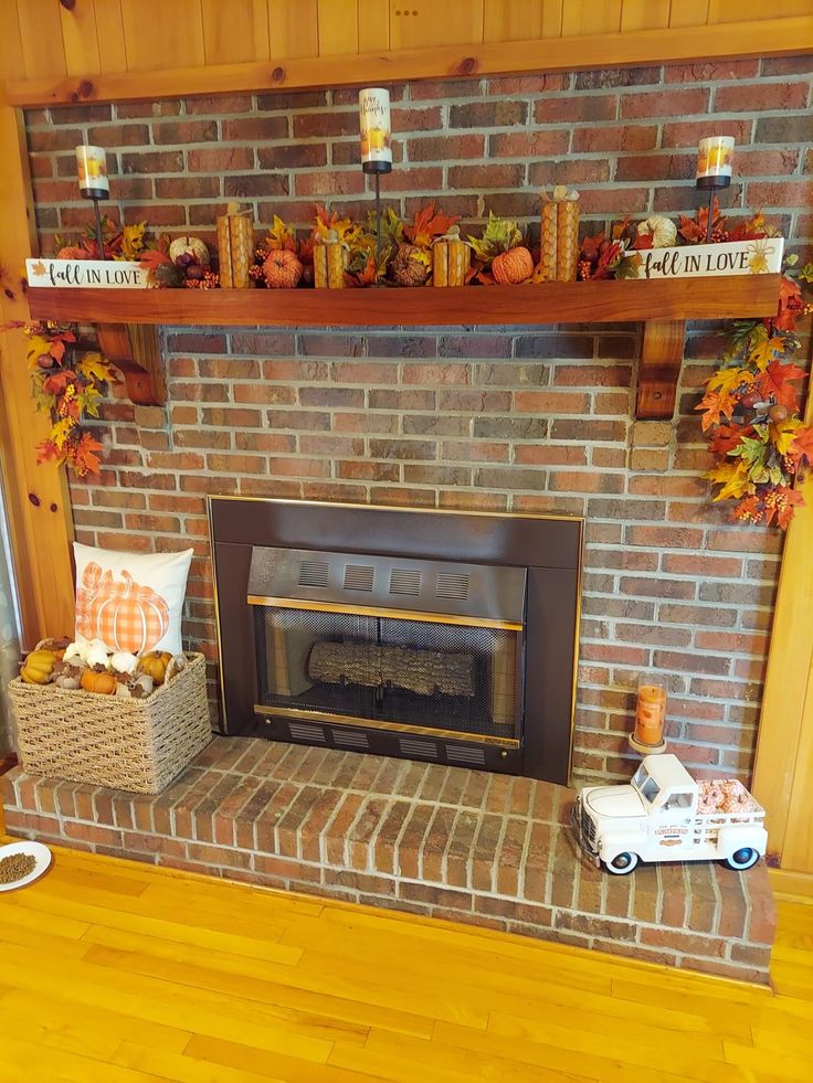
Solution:
{"label": "red brick wall above and around the fireplace, without the hearth", "polygon": [[[733,213],[811,238],[809,57],[393,88],[388,202],[430,195],[531,232],[539,185],[582,192],[585,229],[696,204],[700,135],[737,138]],[[73,147],[108,150],[127,221],[211,237],[226,199],[305,225],[315,199],[362,214],[356,92],[233,95],[31,112],[43,242],[88,221]],[[114,203],[115,206],[115,203]],[[807,256],[809,257],[809,256]],[[564,314],[567,315],[567,314]],[[169,330],[167,410],[104,410],[98,485],[72,485],[77,537],[197,551],[186,635],[214,658],[204,495],[245,493],[583,514],[576,766],[627,775],[638,673],[668,681],[672,747],[748,775],[781,551],[706,500],[693,407],[719,340],[696,327],[674,424],[632,420],[640,329],[325,333]]]}

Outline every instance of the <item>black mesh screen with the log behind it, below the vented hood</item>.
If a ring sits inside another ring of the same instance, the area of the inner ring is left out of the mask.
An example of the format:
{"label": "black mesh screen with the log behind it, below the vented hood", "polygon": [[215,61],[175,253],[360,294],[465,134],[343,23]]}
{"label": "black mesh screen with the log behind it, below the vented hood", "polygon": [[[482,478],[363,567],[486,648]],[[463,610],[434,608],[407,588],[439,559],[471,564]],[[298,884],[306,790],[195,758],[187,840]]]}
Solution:
{"label": "black mesh screen with the log behind it, below the vented hood", "polygon": [[515,737],[515,630],[255,605],[257,708],[327,721]]}

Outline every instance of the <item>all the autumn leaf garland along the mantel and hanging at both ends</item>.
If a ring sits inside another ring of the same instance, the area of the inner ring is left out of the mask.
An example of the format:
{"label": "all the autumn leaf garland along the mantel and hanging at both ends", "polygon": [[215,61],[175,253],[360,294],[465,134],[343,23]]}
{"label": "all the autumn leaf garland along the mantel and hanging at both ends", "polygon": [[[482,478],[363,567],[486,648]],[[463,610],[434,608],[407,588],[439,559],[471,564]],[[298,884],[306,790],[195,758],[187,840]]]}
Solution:
{"label": "all the autumn leaf garland along the mantel and hanging at both ends", "polygon": [[[578,277],[582,282],[634,278],[641,253],[677,243],[703,244],[709,211],[694,217],[682,215],[679,224],[654,215],[637,224],[625,220],[611,231],[587,236],[581,242]],[[769,243],[775,232],[762,214],[729,226],[714,202],[711,241],[757,242],[750,270],[766,269],[759,243]],[[317,248],[329,252],[338,267],[336,285],[363,287],[377,284],[410,287],[432,282],[433,246],[458,234],[458,215],[445,215],[432,200],[409,222],[391,208],[381,221],[380,251],[372,215],[361,225],[329,213],[317,204],[310,235],[297,240],[292,226],[274,216],[272,227],[254,251],[249,276],[267,288],[296,288],[315,284]],[[104,254],[113,259],[137,259],[159,288],[212,289],[220,285],[211,269],[205,243],[166,235],[147,240],[146,223],[118,230],[108,219],[103,223]],[[488,285],[545,280],[540,262],[535,262],[516,222],[489,214],[481,237],[468,237],[471,266],[465,283]],[[88,227],[78,242],[56,238],[61,258],[94,258],[101,255],[98,238]],[[788,267],[795,257],[786,261]],[[813,283],[813,264],[798,277]],[[334,284],[334,283],[331,283]],[[696,407],[703,412],[703,431],[708,433],[715,467],[706,477],[717,488],[718,500],[737,500],[732,516],[747,523],[786,529],[802,495],[793,488],[803,470],[813,467],[813,426],[799,416],[799,385],[806,373],[793,363],[800,343],[796,320],[811,311],[802,300],[798,282],[782,277],[777,316],[766,320],[731,321],[722,364],[706,383]],[[15,325],[20,326],[20,325]],[[38,447],[39,460],[55,460],[78,477],[97,474],[102,445],[82,425],[85,416],[98,416],[98,401],[115,370],[98,351],[83,347],[75,325],[28,325],[31,341],[28,359],[33,393],[41,408],[51,411],[51,434]]]}

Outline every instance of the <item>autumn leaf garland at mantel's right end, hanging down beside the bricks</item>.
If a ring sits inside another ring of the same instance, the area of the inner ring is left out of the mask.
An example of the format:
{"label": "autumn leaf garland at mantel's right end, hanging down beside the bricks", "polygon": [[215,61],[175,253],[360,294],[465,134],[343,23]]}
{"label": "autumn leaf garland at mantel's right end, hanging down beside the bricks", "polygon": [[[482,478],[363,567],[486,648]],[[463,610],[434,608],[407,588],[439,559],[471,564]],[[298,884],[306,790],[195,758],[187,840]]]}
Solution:
{"label": "autumn leaf garland at mantel's right end, hanging down beside the bricks", "polygon": [[[707,208],[695,217],[682,215],[676,226],[656,215],[634,229],[629,220],[603,233],[585,237],[581,245],[579,276],[582,280],[636,277],[641,252],[683,244],[705,244]],[[711,240],[757,242],[751,256],[752,273],[764,266],[764,248],[775,236],[762,214],[730,227],[715,201]],[[790,268],[795,257],[785,261]],[[813,264],[801,268],[803,283],[813,283]],[[714,500],[736,500],[732,517],[746,523],[785,530],[795,509],[804,503],[793,488],[801,474],[813,467],[813,426],[799,416],[799,389],[806,376],[793,363],[800,348],[796,321],[812,309],[802,300],[799,282],[782,276],[779,309],[771,319],[732,320],[726,331],[722,364],[705,385],[696,410],[701,411],[709,450],[717,459],[705,476],[716,489]]]}

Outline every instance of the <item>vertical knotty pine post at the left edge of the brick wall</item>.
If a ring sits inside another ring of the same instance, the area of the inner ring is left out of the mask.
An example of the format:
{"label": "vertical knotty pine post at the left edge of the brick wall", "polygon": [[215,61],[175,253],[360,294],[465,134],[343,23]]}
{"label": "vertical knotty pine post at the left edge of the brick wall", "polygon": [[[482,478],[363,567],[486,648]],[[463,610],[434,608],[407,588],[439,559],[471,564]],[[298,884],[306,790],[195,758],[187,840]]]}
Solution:
{"label": "vertical knotty pine post at the left edge of the brick wall", "polygon": [[[0,155],[2,327],[30,318],[13,268],[23,266],[35,251],[22,116],[8,106],[0,107]],[[45,636],[72,634],[74,584],[67,485],[64,470],[36,463],[35,446],[47,436],[51,424],[34,408],[25,348],[22,330],[0,331],[0,437],[23,644],[29,647]]]}

